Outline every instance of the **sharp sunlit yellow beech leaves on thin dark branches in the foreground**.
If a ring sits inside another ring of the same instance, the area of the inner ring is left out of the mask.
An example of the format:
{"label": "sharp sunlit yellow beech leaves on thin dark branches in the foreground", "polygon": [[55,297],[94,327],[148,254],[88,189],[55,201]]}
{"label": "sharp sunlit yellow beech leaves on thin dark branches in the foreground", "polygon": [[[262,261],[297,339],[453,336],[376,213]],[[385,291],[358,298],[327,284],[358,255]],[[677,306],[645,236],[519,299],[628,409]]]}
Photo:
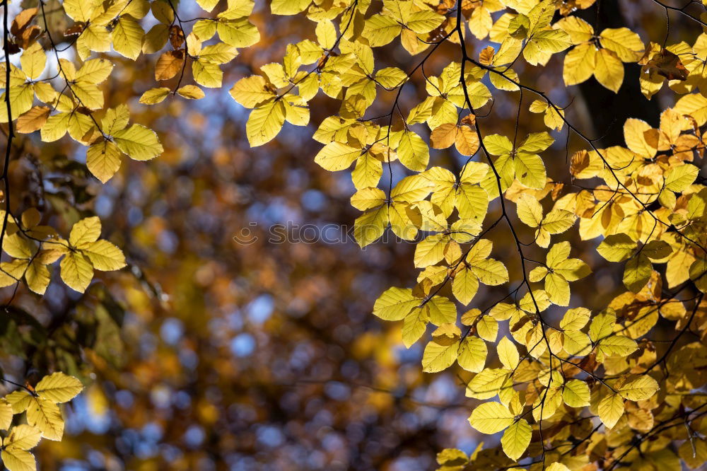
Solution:
{"label": "sharp sunlit yellow beech leaves on thin dark branches in the foreground", "polygon": [[[0,286],[46,296],[58,264],[84,293],[96,270],[127,264],[80,199],[12,206],[18,143],[71,139],[110,185],[126,157],[168,157],[150,107],[228,88],[250,110],[252,158],[302,127],[322,144],[313,161],[351,176],[361,248],[390,233],[415,244],[418,271],[381,286],[373,315],[397,322],[405,347],[423,344],[421,371],[455,371],[473,429],[503,432],[472,453],[440,450],[440,470],[695,467],[707,459],[707,17],[642,2],[633,8],[679,11],[696,33],[671,43],[604,27],[585,14],[594,0],[64,0],[11,19],[5,2]],[[308,27],[233,80],[224,68],[257,50],[252,16],[268,8]],[[135,62],[149,73],[124,81]],[[542,68],[556,74],[539,79]],[[665,109],[600,144],[547,88],[566,96],[593,81]],[[109,83],[139,98],[106,100]],[[322,116],[313,105],[325,99],[337,110]],[[506,124],[486,120],[494,106]],[[619,293],[590,307],[577,286],[605,283],[593,275],[614,266]],[[82,388],[57,372],[4,397],[8,469],[35,469],[28,450],[62,438],[57,403]]]}

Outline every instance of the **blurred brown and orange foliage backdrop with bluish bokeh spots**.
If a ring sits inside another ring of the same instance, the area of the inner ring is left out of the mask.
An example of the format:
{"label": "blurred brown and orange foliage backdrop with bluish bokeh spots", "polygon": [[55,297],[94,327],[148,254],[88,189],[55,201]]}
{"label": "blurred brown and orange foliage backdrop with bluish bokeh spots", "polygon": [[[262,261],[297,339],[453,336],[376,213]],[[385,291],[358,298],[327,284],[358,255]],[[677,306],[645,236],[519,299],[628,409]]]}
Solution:
{"label": "blurred brown and orange foliage backdrop with bluish bokeh spots", "polygon": [[[382,289],[414,282],[414,245],[390,240],[360,250],[351,237],[358,211],[349,204],[349,173],[333,174],[313,162],[320,145],[311,134],[324,117],[337,114],[336,100],[320,93],[308,127],[285,124],[267,146],[247,144],[247,111],[228,96],[230,84],[281,59],[289,43],[314,37],[305,17],[270,16],[266,3],[257,1],[251,16],[261,41],[225,66],[224,87],[203,100],[139,105],[153,86],[156,57],[132,62],[110,54],[117,66],[105,83],[106,103],[127,103],[134,122],[158,132],[165,146],[160,158],[125,160],[104,186],[70,139],[40,145],[38,136],[23,135],[16,141],[11,186],[21,194],[13,213],[37,207],[65,232],[97,214],[103,236],[129,262],[121,272],[101,274],[82,295],[58,277],[42,297],[25,286],[1,291],[9,305],[0,316],[6,377],[31,380],[61,370],[88,384],[66,407],[64,440],[37,449],[44,470],[428,470],[442,448],[470,452],[481,440],[467,423],[474,402],[464,398],[464,376],[422,373],[421,346],[404,349],[400,325],[370,314]],[[651,2],[599,4],[602,28],[627,26],[653,40],[669,34],[671,42],[695,34],[694,23],[673,14],[666,33],[665,11]],[[13,8],[35,5],[25,0]],[[61,7],[50,0],[46,8],[59,13],[49,16],[50,28],[63,37]],[[202,13],[193,2],[178,8],[182,18]],[[593,23],[596,6],[580,16]],[[470,42],[470,52],[477,56],[486,45]],[[426,63],[426,74],[438,74],[456,54],[453,45],[443,45]],[[420,59],[411,59],[399,42],[376,56],[385,63],[381,68],[406,70]],[[670,92],[652,102],[640,96],[639,67],[626,66],[623,87],[636,88],[634,98],[642,100],[630,109],[633,92],[623,88],[620,100],[593,79],[568,90],[558,58],[544,68],[518,64],[517,71],[567,105],[568,118],[586,135],[609,146],[623,144],[621,124],[629,112],[657,126],[659,110],[672,105]],[[425,96],[423,76],[413,81],[402,94],[405,110]],[[371,115],[387,112],[392,95],[381,91]],[[513,134],[518,98],[518,92],[494,95],[493,105],[481,110],[487,113],[479,120],[484,134]],[[534,97],[526,99],[525,106]],[[518,133],[537,129],[542,115],[525,117]],[[560,179],[581,142],[568,139],[566,129],[555,134],[545,162],[549,176]],[[431,165],[462,164],[451,149],[433,152]],[[404,176],[402,167],[393,168],[396,179]],[[269,241],[269,227],[288,222],[312,224],[310,231],[342,226],[349,237]],[[498,232],[493,242],[502,248],[513,240]],[[573,240],[575,256],[598,267],[592,244]],[[504,261],[512,274],[520,270],[513,257]],[[620,268],[596,270],[573,286],[573,303],[605,306],[623,291],[620,277]],[[490,289],[478,304],[488,306],[503,290]],[[660,324],[656,335],[671,338]]]}

